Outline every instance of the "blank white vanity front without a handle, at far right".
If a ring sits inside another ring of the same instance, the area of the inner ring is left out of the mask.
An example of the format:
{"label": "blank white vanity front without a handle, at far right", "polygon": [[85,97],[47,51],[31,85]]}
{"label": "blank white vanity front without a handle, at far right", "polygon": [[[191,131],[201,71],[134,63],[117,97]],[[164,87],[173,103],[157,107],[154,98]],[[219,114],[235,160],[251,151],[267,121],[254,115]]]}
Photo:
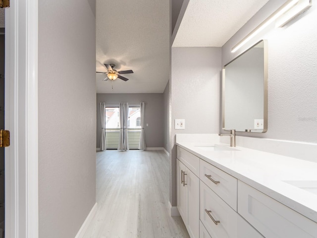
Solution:
{"label": "blank white vanity front without a handle, at far right", "polygon": [[317,238],[317,223],[242,181],[238,213],[267,238]]}

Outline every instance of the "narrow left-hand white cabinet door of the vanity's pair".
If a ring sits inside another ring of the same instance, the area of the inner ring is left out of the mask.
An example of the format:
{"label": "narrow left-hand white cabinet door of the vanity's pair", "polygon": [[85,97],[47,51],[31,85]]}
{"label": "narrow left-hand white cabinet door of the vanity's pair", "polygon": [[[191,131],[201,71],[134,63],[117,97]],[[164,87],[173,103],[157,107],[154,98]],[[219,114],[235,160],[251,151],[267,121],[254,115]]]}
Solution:
{"label": "narrow left-hand white cabinet door of the vanity's pair", "polygon": [[185,225],[187,224],[187,211],[186,211],[186,187],[183,185],[183,173],[186,172],[186,167],[182,162],[176,160],[176,189],[177,189],[177,209],[183,219]]}

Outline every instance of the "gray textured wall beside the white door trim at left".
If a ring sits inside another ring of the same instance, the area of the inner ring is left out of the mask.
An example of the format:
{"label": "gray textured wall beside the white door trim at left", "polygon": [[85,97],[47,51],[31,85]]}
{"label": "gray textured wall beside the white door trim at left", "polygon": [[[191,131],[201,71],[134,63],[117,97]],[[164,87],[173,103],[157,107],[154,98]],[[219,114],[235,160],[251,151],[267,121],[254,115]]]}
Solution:
{"label": "gray textured wall beside the white door trim at left", "polygon": [[39,237],[73,238],[96,202],[95,0],[39,1]]}

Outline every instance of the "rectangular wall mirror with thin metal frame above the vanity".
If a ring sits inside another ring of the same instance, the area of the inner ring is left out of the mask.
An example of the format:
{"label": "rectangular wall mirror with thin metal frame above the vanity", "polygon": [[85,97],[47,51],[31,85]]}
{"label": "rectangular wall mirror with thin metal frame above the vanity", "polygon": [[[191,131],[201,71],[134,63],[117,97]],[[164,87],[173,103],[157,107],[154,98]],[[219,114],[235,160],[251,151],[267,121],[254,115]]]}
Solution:
{"label": "rectangular wall mirror with thin metal frame above the vanity", "polygon": [[222,127],[267,130],[267,46],[262,40],[222,69]]}

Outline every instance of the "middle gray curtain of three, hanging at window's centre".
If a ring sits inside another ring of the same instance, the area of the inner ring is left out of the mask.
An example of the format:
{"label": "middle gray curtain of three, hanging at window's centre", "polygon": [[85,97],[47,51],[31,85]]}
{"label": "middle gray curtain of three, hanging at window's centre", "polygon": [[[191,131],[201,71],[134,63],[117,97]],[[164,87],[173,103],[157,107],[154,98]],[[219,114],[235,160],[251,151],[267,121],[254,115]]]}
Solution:
{"label": "middle gray curtain of three, hanging at window's centre", "polygon": [[128,144],[128,113],[129,113],[129,104],[120,103],[120,134],[119,134],[119,145],[118,150],[129,150]]}

